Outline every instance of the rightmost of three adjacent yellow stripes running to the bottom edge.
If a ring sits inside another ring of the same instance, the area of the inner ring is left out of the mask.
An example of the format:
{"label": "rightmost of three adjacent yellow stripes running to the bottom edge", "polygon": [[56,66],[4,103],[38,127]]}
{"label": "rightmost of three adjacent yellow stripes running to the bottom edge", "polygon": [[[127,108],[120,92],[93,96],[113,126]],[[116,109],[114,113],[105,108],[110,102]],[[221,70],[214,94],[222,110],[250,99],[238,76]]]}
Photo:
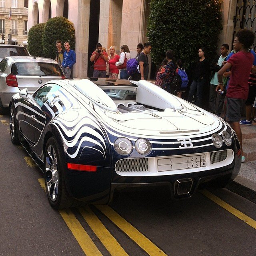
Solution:
{"label": "rightmost of three adjacent yellow stripes running to the bottom edge", "polygon": [[[160,248],[153,244],[148,238],[146,238],[140,231],[134,228],[129,222],[122,218],[112,208],[107,205],[96,206],[101,212],[103,212],[118,228],[123,230],[138,246],[140,246],[146,253],[151,256],[166,255]],[[166,255],[167,256],[167,255]]]}

